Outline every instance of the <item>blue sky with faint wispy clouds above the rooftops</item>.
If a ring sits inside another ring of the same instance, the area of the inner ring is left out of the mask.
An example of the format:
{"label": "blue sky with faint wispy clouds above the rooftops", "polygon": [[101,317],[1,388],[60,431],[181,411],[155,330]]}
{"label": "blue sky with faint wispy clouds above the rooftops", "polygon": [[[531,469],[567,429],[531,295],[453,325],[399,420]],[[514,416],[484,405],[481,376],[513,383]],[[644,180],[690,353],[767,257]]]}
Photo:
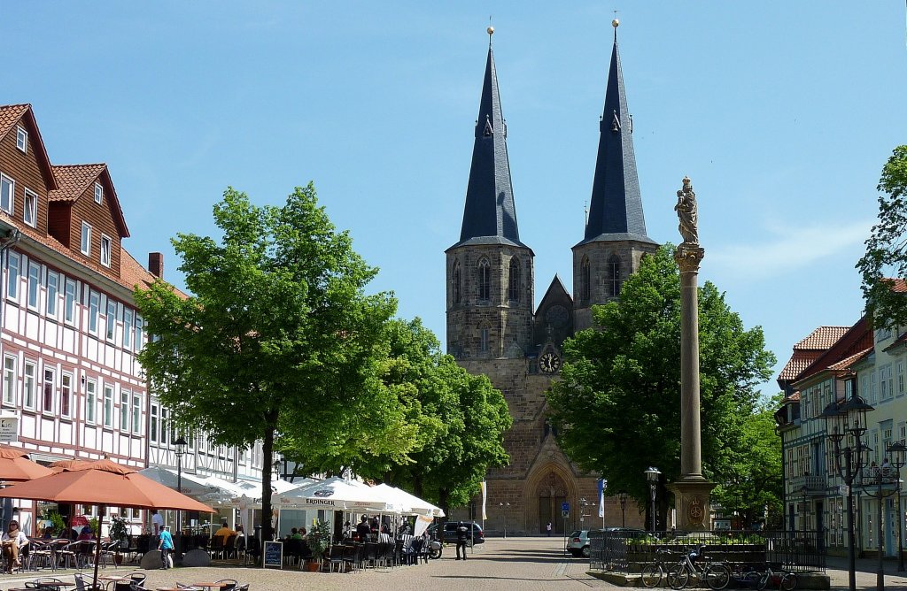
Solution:
{"label": "blue sky with faint wispy clouds above the rooftops", "polygon": [[373,288],[444,342],[489,15],[538,301],[572,285],[616,9],[649,236],[678,242],[688,175],[700,281],[764,327],[777,372],[861,315],[853,265],[907,143],[904,4],[624,4],[5,2],[3,102],[34,105],[55,164],[108,163],[125,246],[180,286],[169,238],[212,234],[227,186],[280,204],[314,180]]}

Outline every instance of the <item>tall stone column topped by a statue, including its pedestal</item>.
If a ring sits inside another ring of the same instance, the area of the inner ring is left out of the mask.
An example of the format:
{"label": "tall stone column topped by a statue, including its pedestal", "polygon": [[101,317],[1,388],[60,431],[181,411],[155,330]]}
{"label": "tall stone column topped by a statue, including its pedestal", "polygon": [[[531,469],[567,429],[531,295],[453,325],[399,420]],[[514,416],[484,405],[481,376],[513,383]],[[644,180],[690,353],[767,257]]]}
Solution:
{"label": "tall stone column topped by a statue, including its pedestal", "polygon": [[668,489],[674,493],[679,529],[709,529],[708,496],[715,485],[702,476],[697,285],[699,263],[706,251],[699,246],[696,193],[688,178],[678,190],[675,209],[684,238],[674,255],[680,267],[680,480]]}

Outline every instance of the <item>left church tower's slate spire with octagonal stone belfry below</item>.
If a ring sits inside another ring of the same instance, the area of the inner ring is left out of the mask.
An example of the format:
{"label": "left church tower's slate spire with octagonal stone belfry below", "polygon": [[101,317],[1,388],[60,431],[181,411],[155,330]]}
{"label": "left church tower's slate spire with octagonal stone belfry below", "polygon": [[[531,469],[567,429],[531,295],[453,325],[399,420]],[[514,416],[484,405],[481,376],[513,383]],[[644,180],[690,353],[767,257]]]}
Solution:
{"label": "left church tower's slate spire with octagonal stone belfry below", "polygon": [[493,29],[488,32],[463,228],[445,251],[447,351],[463,362],[523,359],[532,341],[534,254],[517,227]]}

